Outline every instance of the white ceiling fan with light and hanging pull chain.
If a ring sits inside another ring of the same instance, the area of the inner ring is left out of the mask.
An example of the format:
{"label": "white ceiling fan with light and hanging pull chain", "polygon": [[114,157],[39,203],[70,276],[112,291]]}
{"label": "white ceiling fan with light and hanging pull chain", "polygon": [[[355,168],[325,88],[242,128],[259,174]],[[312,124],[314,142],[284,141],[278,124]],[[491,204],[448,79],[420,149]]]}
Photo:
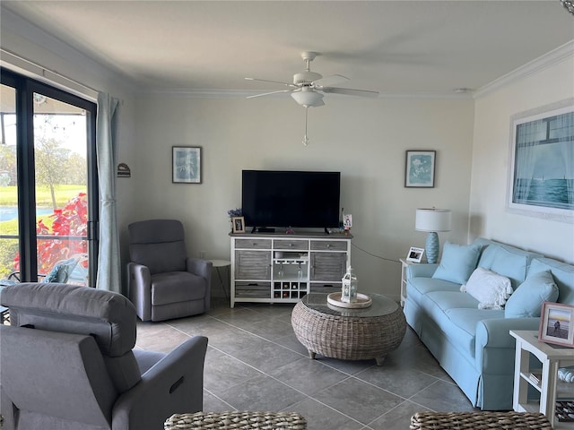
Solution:
{"label": "white ceiling fan with light and hanging pull chain", "polygon": [[308,107],[320,107],[324,106],[323,93],[331,94],[344,94],[347,96],[359,96],[359,97],[378,97],[378,91],[370,90],[352,90],[350,88],[338,88],[332,87],[342,82],[349,81],[349,78],[342,76],[340,74],[333,74],[331,76],[323,77],[322,74],[311,72],[311,61],[319,55],[317,52],[305,51],[301,53],[301,58],[305,61],[306,67],[305,71],[301,73],[295,73],[293,75],[293,82],[278,82],[269,81],[265,79],[257,78],[245,78],[248,81],[259,81],[259,82],[271,82],[278,83],[280,85],[289,87],[289,90],[277,90],[271,92],[264,92],[263,94],[257,94],[255,96],[249,96],[248,99],[254,99],[256,97],[270,96],[272,94],[279,94],[282,92],[291,93],[291,97],[302,107],[305,107],[305,136],[303,138],[303,144],[307,146],[309,139],[307,138],[307,110]]}

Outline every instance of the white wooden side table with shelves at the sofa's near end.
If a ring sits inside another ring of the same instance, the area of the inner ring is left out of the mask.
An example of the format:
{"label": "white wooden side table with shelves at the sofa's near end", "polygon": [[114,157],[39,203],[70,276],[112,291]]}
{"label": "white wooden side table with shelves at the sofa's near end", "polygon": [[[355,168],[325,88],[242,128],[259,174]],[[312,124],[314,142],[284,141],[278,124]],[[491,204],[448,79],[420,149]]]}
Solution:
{"label": "white wooden side table with shelves at the sofa's near end", "polygon": [[[574,395],[574,384],[559,384],[558,368],[574,365],[574,348],[561,348],[540,342],[538,331],[511,330],[510,336],[517,340],[512,408],[517,412],[542,412],[550,421],[552,428],[559,428],[562,423],[555,419],[556,400],[564,395],[571,399]],[[530,376],[535,370],[539,371],[530,368],[531,354],[542,363],[540,382]],[[562,392],[560,385],[567,385],[568,391]],[[529,386],[540,392],[540,401],[528,399]],[[563,424],[571,425],[571,423]]]}

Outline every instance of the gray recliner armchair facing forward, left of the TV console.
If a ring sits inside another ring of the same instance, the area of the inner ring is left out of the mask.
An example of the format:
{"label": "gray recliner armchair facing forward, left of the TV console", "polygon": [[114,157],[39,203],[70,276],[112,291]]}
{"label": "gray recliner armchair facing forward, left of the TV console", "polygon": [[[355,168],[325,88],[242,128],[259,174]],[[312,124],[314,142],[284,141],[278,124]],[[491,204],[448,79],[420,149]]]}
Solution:
{"label": "gray recliner armchair facing forward, left of the TV console", "polygon": [[127,226],[129,298],[142,321],[164,321],[209,310],[212,262],[188,258],[183,225],[150,219]]}

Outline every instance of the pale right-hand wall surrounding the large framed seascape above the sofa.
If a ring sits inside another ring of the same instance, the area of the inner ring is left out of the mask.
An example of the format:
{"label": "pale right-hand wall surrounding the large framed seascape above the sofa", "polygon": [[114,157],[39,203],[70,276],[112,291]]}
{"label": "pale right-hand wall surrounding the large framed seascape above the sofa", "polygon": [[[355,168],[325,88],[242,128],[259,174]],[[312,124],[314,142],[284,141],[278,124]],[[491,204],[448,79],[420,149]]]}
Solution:
{"label": "pale right-hand wall surrounding the large framed seascape above the sofa", "polygon": [[574,262],[571,223],[506,210],[510,117],[574,97],[572,56],[476,100],[470,236],[502,242]]}

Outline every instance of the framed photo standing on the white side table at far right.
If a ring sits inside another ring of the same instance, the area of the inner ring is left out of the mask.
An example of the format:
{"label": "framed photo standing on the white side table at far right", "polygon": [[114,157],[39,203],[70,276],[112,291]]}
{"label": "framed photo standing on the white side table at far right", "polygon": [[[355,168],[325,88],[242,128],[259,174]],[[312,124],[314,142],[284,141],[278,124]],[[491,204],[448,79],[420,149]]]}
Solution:
{"label": "framed photo standing on the white side table at far right", "polygon": [[574,306],[544,302],[538,340],[574,348]]}

